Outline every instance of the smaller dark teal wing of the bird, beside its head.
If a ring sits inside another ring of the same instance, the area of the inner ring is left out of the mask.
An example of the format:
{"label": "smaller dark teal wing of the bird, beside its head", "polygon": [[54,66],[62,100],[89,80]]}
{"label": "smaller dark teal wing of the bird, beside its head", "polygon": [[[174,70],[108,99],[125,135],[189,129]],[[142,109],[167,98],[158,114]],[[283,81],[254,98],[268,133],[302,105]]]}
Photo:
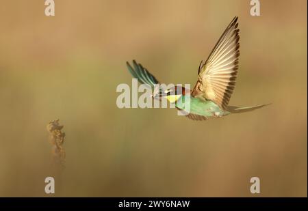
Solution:
{"label": "smaller dark teal wing of the bird, beside its head", "polygon": [[142,67],[141,64],[137,64],[135,60],[133,60],[133,68],[126,62],[127,68],[129,72],[133,75],[134,78],[138,79],[140,83],[145,83],[151,85],[151,87],[155,87],[156,84],[159,84],[157,79],[151,74],[146,68]]}

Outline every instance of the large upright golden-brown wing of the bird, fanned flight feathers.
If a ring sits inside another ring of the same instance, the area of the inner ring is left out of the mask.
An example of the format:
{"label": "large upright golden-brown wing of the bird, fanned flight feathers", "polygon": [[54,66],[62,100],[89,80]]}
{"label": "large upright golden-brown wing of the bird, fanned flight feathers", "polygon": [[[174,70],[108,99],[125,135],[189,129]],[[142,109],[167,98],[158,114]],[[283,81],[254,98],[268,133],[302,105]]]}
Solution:
{"label": "large upright golden-brown wing of the bird, fanned flight feathers", "polygon": [[198,69],[198,81],[192,89],[193,97],[201,97],[226,109],[235,87],[240,56],[238,17],[233,18],[227,29]]}

